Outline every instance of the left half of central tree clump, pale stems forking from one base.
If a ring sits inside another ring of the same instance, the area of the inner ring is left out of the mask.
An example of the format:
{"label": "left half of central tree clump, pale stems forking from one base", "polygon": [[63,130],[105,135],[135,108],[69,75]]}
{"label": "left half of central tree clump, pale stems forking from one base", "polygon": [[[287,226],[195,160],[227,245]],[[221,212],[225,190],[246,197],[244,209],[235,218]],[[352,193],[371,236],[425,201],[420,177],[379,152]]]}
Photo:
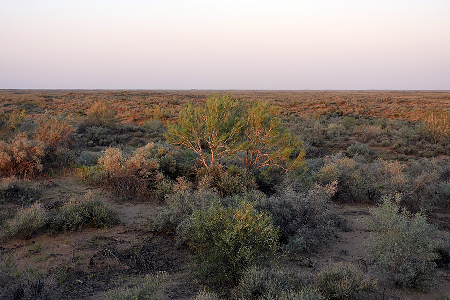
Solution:
{"label": "left half of central tree clump, pale stems forking from one base", "polygon": [[229,94],[209,96],[200,107],[187,104],[179,113],[177,125],[167,122],[165,137],[169,143],[195,152],[202,165],[218,164],[233,152],[238,140],[242,124],[237,106]]}

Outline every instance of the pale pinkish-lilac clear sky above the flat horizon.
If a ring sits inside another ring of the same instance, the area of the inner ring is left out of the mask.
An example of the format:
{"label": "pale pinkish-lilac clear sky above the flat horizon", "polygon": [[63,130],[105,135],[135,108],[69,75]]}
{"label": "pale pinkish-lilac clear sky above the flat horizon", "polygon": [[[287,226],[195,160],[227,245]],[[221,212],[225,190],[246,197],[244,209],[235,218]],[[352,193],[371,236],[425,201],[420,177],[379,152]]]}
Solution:
{"label": "pale pinkish-lilac clear sky above the flat horizon", "polygon": [[449,0],[0,0],[0,89],[450,90]]}

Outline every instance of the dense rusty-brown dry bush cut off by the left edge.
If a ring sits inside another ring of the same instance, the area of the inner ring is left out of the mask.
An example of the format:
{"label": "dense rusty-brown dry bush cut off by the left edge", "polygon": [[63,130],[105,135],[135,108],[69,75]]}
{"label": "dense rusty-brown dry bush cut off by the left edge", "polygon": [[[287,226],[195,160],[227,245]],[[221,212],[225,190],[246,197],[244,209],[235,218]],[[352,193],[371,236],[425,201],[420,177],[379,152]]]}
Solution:
{"label": "dense rusty-brown dry bush cut off by the left edge", "polygon": [[44,148],[40,141],[17,134],[8,142],[0,141],[0,174],[34,178],[42,171],[41,157]]}

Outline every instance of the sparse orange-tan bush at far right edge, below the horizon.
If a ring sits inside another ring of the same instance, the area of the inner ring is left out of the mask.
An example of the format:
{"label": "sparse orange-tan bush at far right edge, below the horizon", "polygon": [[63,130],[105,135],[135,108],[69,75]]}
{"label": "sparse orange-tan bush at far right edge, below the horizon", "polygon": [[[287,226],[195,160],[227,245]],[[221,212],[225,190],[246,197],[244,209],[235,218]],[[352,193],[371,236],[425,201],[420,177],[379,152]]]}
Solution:
{"label": "sparse orange-tan bush at far right edge, below the horizon", "polygon": [[438,143],[450,133],[450,113],[444,110],[428,111],[422,118],[422,126],[434,143]]}

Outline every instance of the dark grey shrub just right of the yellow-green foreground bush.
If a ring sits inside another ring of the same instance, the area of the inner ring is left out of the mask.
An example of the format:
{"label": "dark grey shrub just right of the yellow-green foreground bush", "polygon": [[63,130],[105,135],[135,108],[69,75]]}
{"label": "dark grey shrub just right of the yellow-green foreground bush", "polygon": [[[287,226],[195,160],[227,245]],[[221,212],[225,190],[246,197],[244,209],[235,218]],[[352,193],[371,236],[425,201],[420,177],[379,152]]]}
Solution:
{"label": "dark grey shrub just right of the yellow-green foreground bush", "polygon": [[286,186],[281,193],[262,199],[257,207],[272,214],[285,250],[309,251],[326,244],[335,234],[330,206],[335,190],[335,184],[315,186],[307,192]]}

